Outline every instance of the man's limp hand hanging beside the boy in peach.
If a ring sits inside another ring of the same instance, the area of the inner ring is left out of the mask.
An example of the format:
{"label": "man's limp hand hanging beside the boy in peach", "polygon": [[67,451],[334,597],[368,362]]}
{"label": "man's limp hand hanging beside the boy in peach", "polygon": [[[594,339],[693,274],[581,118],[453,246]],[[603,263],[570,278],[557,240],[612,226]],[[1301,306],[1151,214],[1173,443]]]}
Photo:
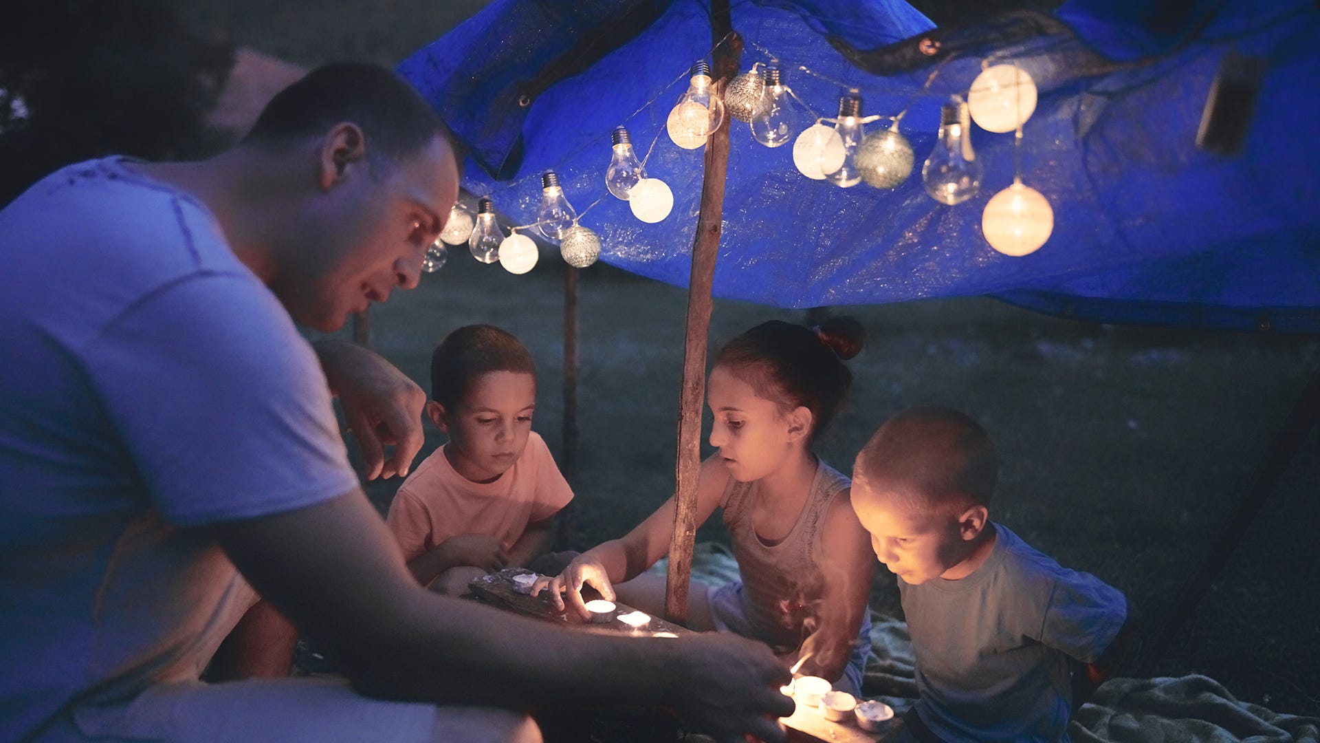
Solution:
{"label": "man's limp hand hanging beside the boy in peach", "polygon": [[[426,393],[376,353],[347,341],[314,344],[330,391],[339,397],[348,430],[358,439],[367,480],[408,475],[424,440],[421,410]],[[393,446],[385,460],[384,447]]]}

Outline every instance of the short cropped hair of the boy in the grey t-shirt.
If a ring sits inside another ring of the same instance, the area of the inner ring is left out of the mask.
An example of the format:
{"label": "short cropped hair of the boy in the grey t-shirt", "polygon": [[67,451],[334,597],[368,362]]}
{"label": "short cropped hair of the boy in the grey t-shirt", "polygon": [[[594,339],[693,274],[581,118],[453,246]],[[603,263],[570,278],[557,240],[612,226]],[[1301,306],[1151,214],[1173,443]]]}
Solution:
{"label": "short cropped hair of the boy in the grey t-shirt", "polygon": [[900,497],[916,510],[958,514],[990,505],[998,463],[990,436],[969,415],[916,406],[886,420],[866,442],[853,476],[904,485]]}

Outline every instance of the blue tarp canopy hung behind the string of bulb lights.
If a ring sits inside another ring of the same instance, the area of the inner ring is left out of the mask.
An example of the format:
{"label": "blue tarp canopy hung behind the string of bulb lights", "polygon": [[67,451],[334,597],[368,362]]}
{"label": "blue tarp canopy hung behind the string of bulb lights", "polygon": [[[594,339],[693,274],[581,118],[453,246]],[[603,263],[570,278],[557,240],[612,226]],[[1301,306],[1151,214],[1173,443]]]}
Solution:
{"label": "blue tarp canopy hung behind the string of bulb lights", "polygon": [[[1163,16],[1074,1],[935,29],[899,0],[733,0],[742,70],[777,61],[808,118],[834,116],[846,89],[863,115],[903,112],[916,168],[892,190],[842,189],[799,173],[791,143],[763,147],[731,122],[715,296],[787,308],[991,295],[1111,323],[1320,331],[1320,9],[1156,5]],[[466,190],[507,223],[536,221],[552,169],[602,260],[686,286],[702,149],[675,145],[665,119],[713,44],[700,0],[496,0],[399,70],[470,148]],[[1245,95],[1225,91],[1228,114],[1250,115],[1241,151],[1221,155],[1196,140],[1230,53],[1265,71]],[[973,126],[981,192],[939,204],[920,168],[940,107],[998,62],[1032,75],[1036,110],[1016,152],[1011,132]],[[673,190],[659,223],[606,190],[620,124]],[[1015,172],[1053,209],[1048,242],[1020,258],[994,251],[981,223]]]}

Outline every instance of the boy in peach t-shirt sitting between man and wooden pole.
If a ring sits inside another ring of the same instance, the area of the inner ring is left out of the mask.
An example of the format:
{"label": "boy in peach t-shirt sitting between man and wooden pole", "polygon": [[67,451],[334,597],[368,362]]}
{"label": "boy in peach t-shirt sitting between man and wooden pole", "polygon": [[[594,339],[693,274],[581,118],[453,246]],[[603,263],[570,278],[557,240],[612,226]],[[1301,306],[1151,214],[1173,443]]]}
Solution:
{"label": "boy in peach t-shirt sitting between man and wooden pole", "polygon": [[450,595],[503,567],[556,571],[553,520],[573,490],[532,431],[531,353],[506,331],[466,325],[436,348],[430,382],[426,415],[449,443],[399,487],[385,518],[408,568]]}

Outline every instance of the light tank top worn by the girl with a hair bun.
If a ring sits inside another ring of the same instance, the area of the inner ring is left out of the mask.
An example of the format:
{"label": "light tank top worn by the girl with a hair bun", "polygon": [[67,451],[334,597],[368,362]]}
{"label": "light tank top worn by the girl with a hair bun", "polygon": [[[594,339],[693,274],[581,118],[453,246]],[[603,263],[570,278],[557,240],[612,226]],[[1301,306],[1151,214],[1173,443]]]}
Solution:
{"label": "light tank top worn by the girl with a hair bun", "polygon": [[719,505],[733,535],[734,557],[742,574],[742,609],[756,636],[777,652],[791,650],[816,629],[824,592],[821,531],[834,498],[851,481],[820,461],[812,490],[788,534],[770,543],[756,534],[751,513],[759,483],[725,485]]}

